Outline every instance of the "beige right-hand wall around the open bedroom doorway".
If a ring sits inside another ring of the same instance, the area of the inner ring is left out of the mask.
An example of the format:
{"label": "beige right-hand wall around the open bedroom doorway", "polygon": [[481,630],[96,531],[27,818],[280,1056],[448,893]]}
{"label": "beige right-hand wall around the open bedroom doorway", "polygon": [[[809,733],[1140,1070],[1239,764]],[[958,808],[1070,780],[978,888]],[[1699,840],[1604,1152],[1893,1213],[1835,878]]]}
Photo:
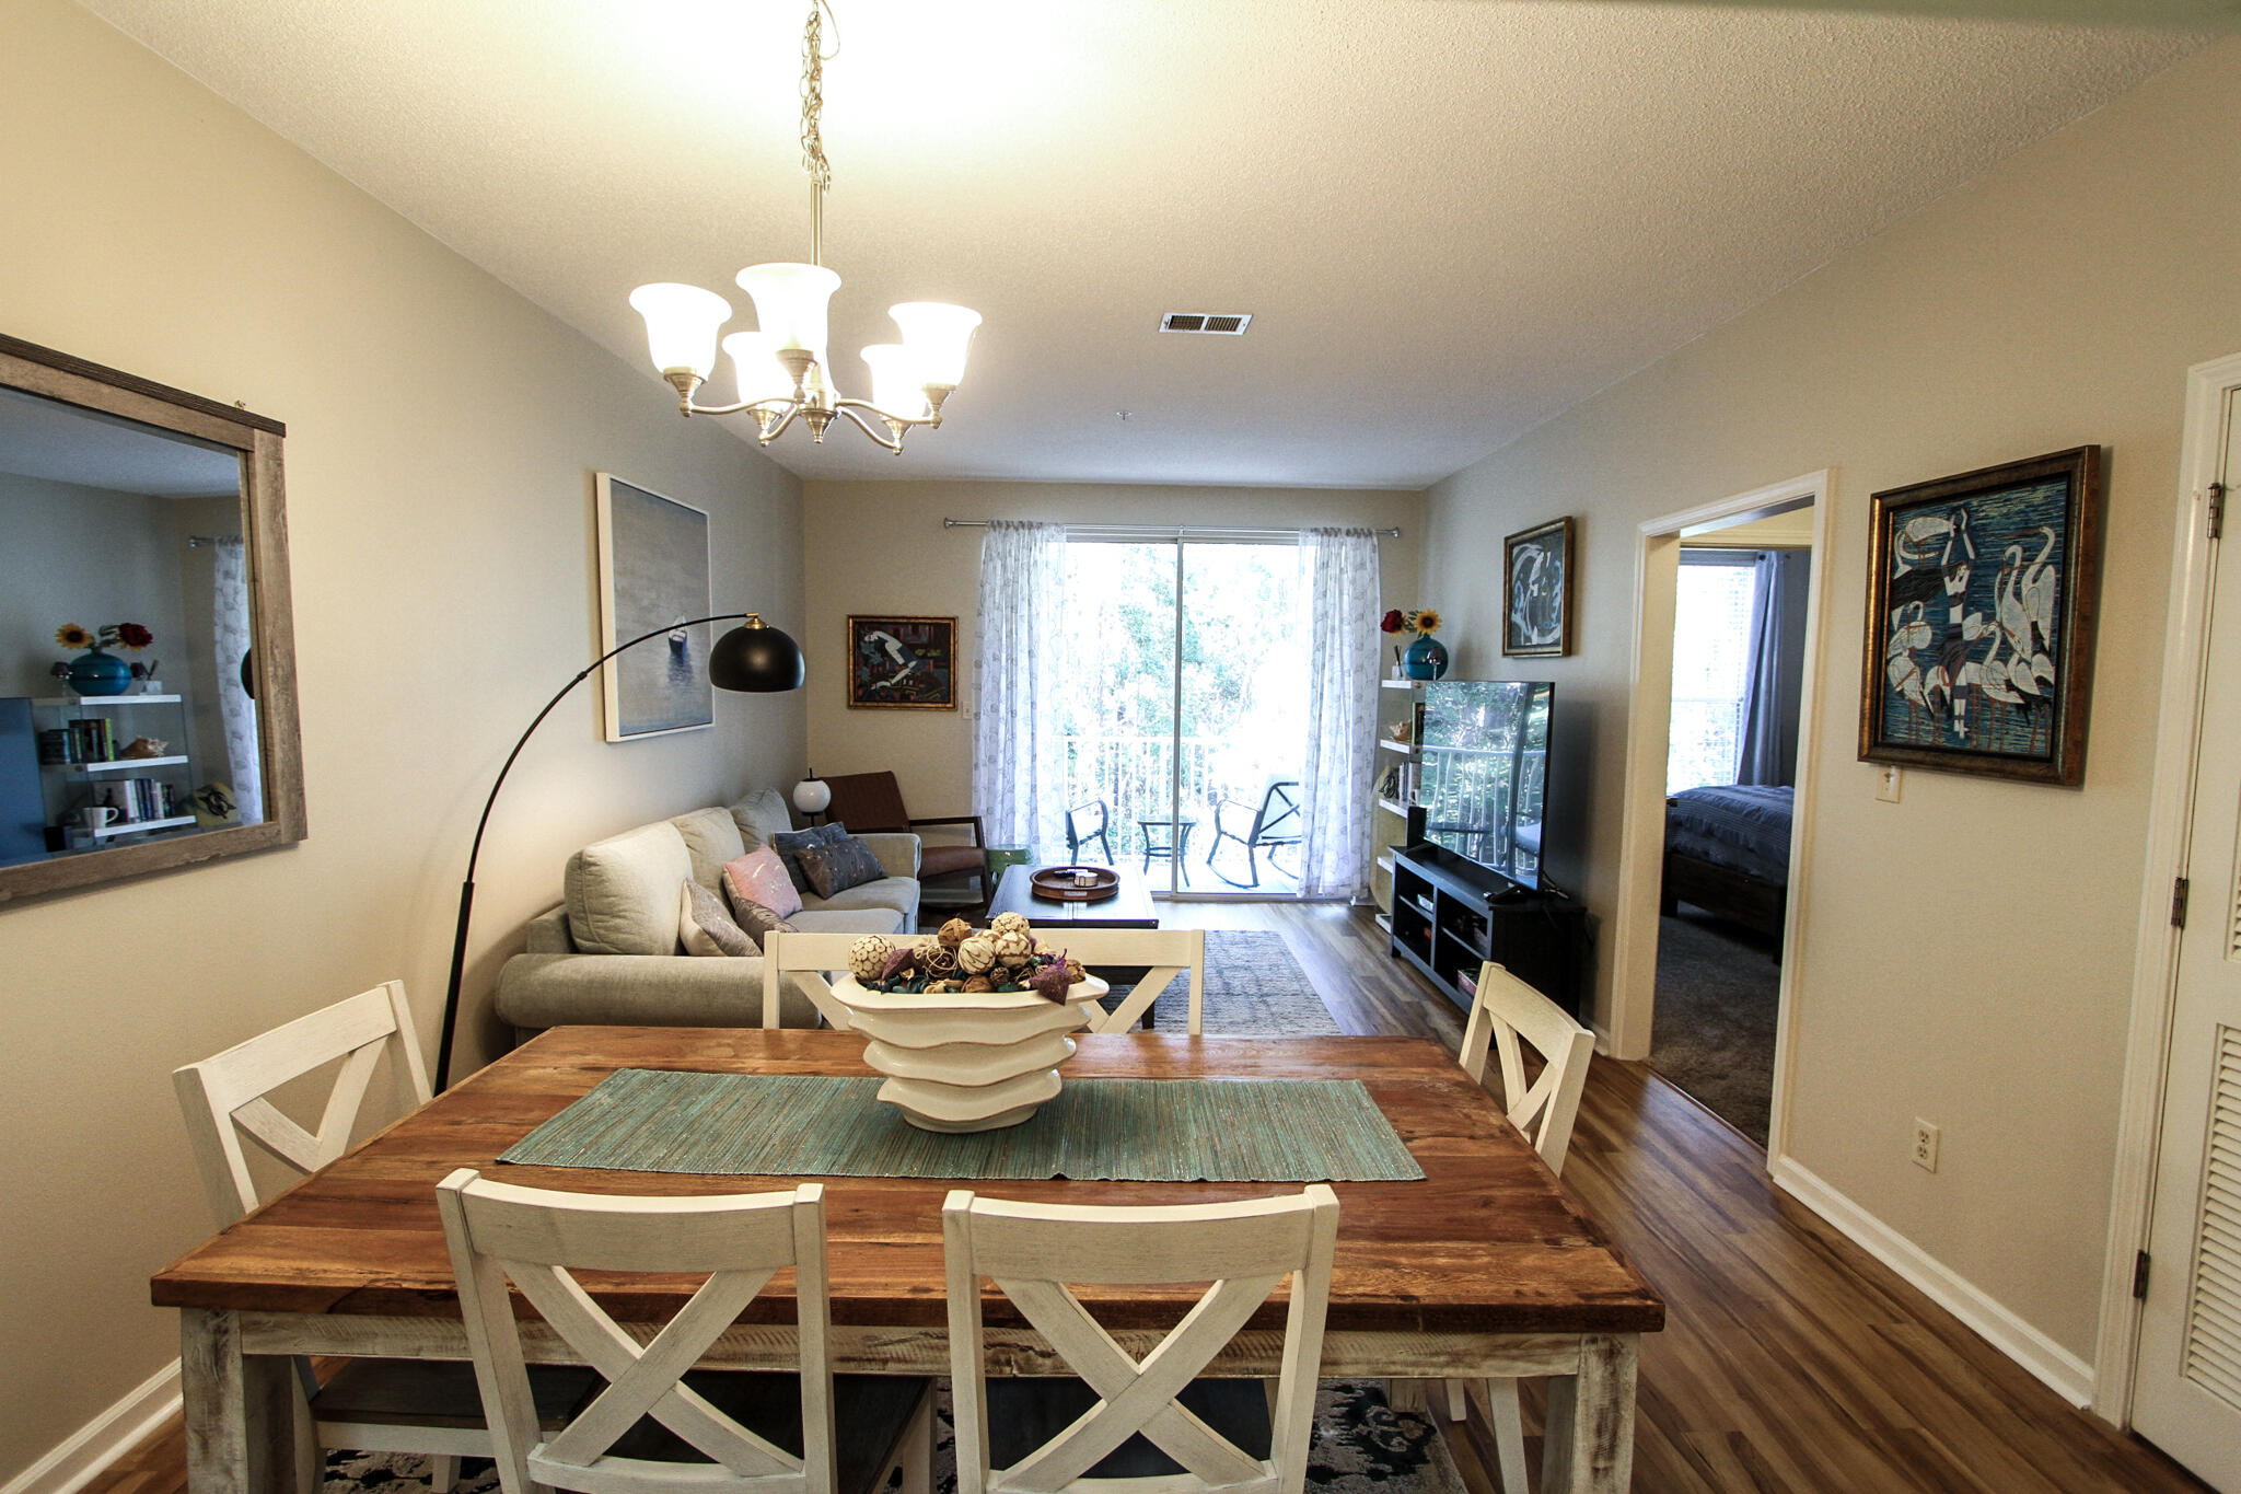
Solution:
{"label": "beige right-hand wall around the open bedroom doorway", "polygon": [[[1616,891],[1640,520],[1835,468],[1791,1156],[2091,1357],[2140,905],[2180,390],[2241,349],[2241,40],[2042,141],[1432,491],[1425,591],[1501,672],[1501,535],[1578,513],[1560,681]],[[2102,632],[2080,791],[1858,764],[1869,493],[2100,441]],[[1609,952],[1609,927],[1602,930]],[[1605,961],[1607,965],[1609,961]],[[1607,995],[1609,970],[1602,972]],[[1907,1162],[1912,1118],[1945,1129]]]}

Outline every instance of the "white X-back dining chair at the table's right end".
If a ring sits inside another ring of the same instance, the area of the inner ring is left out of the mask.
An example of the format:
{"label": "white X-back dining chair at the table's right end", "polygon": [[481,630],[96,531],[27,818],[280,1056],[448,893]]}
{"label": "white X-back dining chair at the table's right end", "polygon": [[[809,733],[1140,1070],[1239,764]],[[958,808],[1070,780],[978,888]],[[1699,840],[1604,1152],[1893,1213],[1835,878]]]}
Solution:
{"label": "white X-back dining chair at the table's right end", "polygon": [[[1526,1084],[1524,1051],[1542,1057],[1540,1077]],[[1549,1171],[1564,1171],[1571,1149],[1571,1122],[1580,1113],[1587,1089],[1587,1064],[1596,1057],[1596,1035],[1571,1012],[1533,990],[1515,974],[1486,961],[1463,1024],[1463,1048],[1457,1059],[1472,1080],[1486,1084],[1486,1053],[1497,1055],[1501,1075],[1501,1111],[1510,1118]],[[1495,1427],[1495,1454],[1506,1494],[1526,1494],[1526,1438],[1517,1407],[1515,1380],[1486,1380],[1486,1411]],[[1463,1420],[1468,1402],[1463,1382],[1448,1382],[1448,1416]]]}

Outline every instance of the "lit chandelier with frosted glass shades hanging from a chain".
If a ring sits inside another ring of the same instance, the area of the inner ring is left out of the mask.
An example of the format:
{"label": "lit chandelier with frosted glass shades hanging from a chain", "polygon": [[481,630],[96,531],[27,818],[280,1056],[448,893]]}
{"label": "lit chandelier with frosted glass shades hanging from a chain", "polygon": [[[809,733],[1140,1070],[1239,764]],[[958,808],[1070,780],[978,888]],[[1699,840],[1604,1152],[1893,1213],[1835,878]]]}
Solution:
{"label": "lit chandelier with frosted glass shades hanging from a chain", "polygon": [[802,170],[809,172],[809,262],[748,264],[740,289],[755,302],[755,332],[733,332],[724,352],[740,374],[740,401],[697,405],[692,394],[715,370],[717,334],[731,320],[731,302],[697,284],[641,284],[630,305],[645,318],[645,343],[654,367],[677,390],[679,414],[753,414],[757,441],[769,446],[793,421],[809,426],[813,441],[847,417],[858,430],[901,455],[912,426],[941,426],[941,405],[966,372],[966,349],[979,311],[939,300],[905,300],[887,309],[901,343],[863,349],[872,370],[872,399],[845,399],[834,383],[825,352],[825,314],[840,276],[825,269],[825,188],[834,168],[825,159],[818,119],[825,112],[827,0],[811,0],[802,29]]}

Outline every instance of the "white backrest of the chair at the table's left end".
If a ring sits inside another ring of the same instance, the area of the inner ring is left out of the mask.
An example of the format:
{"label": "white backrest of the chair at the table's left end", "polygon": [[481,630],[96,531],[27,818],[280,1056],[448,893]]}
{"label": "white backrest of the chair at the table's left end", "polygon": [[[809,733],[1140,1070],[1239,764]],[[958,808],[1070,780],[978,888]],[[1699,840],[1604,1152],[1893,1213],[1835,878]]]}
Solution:
{"label": "white backrest of the chair at the table's left end", "polygon": [[[186,1113],[195,1167],[202,1169],[202,1189],[220,1225],[231,1225],[260,1203],[242,1136],[298,1174],[325,1167],[350,1149],[359,1104],[383,1053],[390,1057],[399,1107],[410,1111],[426,1104],[428,1068],[412,1033],[403,981],[374,986],[199,1064],[173,1068],[170,1082]],[[327,1091],[318,1131],[303,1129],[264,1098],[334,1059],[343,1059],[343,1066]]]}

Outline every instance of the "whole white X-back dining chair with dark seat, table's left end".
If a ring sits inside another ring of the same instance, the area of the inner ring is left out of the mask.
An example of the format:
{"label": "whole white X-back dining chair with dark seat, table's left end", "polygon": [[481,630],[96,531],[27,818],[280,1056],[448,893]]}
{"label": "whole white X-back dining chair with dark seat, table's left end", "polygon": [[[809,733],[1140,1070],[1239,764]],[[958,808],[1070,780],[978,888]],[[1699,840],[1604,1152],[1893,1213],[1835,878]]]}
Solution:
{"label": "whole white X-back dining chair with dark seat, table's left end", "polygon": [[[352,1129],[388,1057],[399,1111],[428,1102],[428,1068],[412,1033],[403,981],[388,981],[309,1017],[235,1044],[199,1064],[175,1068],[170,1080],[186,1113],[195,1165],[220,1227],[258,1207],[258,1185],[242,1138],[296,1174],[309,1174],[350,1149]],[[318,1127],[307,1129],[269,1095],[341,1059]],[[448,1490],[459,1458],[491,1456],[491,1434],[466,1364],[441,1360],[347,1360],[318,1384],[309,1360],[296,1362],[309,1436],[300,1445],[305,1487],[318,1487],[318,1447],[356,1451],[430,1454],[430,1487]],[[547,1416],[585,1393],[592,1378],[574,1369],[540,1371],[538,1404]]]}

